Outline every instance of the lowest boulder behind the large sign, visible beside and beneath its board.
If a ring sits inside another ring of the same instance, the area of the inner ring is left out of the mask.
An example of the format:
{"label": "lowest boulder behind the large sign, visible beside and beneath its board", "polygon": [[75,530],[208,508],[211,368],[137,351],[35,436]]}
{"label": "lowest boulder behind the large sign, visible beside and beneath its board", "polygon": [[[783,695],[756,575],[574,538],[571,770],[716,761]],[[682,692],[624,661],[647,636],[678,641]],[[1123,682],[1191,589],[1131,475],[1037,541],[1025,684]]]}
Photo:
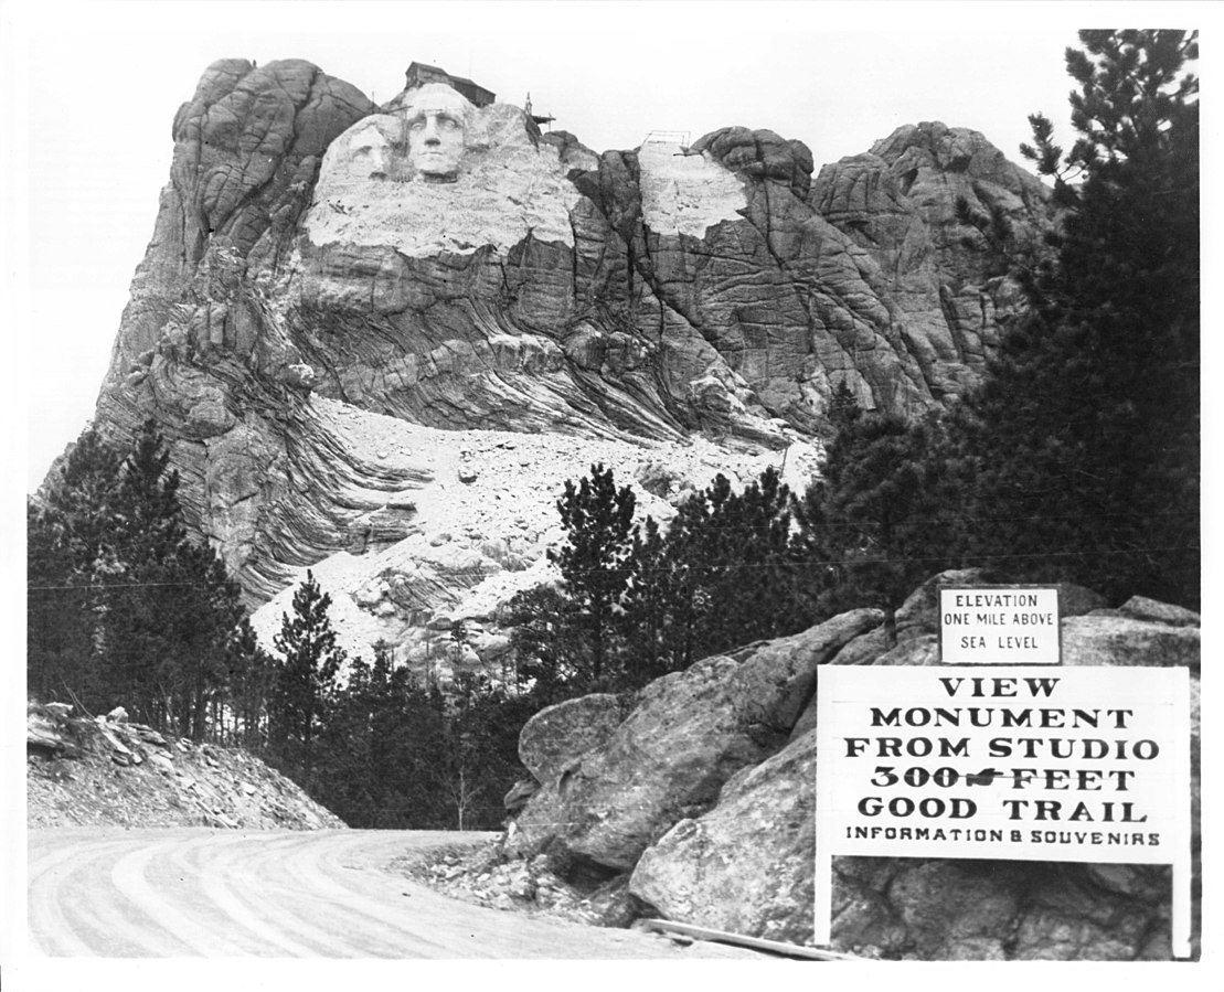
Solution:
{"label": "lowest boulder behind the large sign, visible beside and beneath its board", "polygon": [[[812,946],[815,777],[809,733],[649,848],[630,893],[668,920]],[[930,960],[1138,957],[1158,943],[1168,870],[1118,867],[838,857],[834,944]]]}

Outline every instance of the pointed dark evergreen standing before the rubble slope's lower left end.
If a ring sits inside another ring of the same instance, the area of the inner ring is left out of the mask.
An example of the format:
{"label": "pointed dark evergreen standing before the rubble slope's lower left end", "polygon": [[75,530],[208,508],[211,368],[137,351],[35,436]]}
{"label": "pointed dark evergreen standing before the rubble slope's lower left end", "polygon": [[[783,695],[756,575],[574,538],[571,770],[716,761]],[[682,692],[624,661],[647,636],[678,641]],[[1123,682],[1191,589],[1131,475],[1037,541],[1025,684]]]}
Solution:
{"label": "pointed dark evergreen standing before the rubble slope's lower left end", "polygon": [[332,597],[307,570],[294,592],[294,613],[282,614],[273,640],[280,657],[268,703],[269,738],[273,752],[300,783],[312,780],[315,738],[327,720],[346,657],[327,615],[330,605]]}

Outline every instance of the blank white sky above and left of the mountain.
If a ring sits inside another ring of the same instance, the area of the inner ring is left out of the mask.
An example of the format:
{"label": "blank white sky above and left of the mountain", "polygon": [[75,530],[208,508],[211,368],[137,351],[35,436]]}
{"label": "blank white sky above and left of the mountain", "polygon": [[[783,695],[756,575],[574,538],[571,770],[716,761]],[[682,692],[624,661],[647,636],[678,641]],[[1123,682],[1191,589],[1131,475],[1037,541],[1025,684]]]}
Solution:
{"label": "blank white sky above and left of the mountain", "polygon": [[1064,50],[1091,23],[1075,12],[1108,6],[0,2],[24,296],[9,318],[27,432],[9,443],[24,442],[27,492],[93,412],[169,175],[175,111],[217,59],[307,59],[376,102],[399,92],[409,62],[430,62],[508,103],[530,92],[536,113],[597,152],[654,130],[695,139],[744,125],[799,138],[819,166],[941,120],[1020,160],[1033,111],[1070,138]]}

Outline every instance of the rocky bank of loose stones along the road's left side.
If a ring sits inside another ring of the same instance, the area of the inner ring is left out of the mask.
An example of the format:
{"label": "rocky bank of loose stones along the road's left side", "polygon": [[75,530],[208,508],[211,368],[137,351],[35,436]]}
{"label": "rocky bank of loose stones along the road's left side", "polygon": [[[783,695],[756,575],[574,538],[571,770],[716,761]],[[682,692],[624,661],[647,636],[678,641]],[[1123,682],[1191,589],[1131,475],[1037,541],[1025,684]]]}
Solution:
{"label": "rocky bank of loose stones along the road's left side", "polygon": [[343,828],[293,782],[250,753],[168,738],[121,711],[73,717],[29,703],[31,827]]}

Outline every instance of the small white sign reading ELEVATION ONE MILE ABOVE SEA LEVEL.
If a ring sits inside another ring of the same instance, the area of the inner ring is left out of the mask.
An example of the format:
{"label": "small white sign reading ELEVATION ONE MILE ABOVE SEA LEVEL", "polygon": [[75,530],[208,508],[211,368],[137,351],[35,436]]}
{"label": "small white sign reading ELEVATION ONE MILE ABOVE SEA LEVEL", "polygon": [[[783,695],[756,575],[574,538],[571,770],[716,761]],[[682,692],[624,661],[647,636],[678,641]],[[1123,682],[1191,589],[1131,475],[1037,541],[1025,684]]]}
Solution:
{"label": "small white sign reading ELEVATION ONE MILE ABOVE SEA LEVEL", "polygon": [[1056,588],[939,591],[944,664],[1058,664],[1060,631]]}

